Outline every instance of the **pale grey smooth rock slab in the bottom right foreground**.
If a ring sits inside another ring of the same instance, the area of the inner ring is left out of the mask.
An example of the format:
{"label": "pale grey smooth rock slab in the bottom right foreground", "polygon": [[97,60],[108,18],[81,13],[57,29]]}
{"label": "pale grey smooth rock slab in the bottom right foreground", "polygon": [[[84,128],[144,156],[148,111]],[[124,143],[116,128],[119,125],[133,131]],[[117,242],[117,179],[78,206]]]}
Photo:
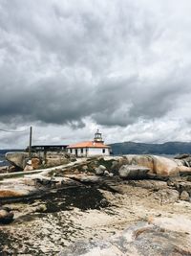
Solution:
{"label": "pale grey smooth rock slab in the bottom right foreground", "polygon": [[175,218],[149,218],[127,227],[107,240],[77,242],[58,256],[156,256],[191,255],[190,224]]}

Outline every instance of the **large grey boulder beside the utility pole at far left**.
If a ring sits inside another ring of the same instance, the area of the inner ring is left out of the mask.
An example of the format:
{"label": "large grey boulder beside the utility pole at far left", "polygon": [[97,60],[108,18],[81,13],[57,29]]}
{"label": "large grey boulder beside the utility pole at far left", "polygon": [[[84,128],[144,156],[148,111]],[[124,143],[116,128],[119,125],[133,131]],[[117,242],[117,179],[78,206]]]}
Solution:
{"label": "large grey boulder beside the utility pole at far left", "polygon": [[14,166],[24,169],[29,159],[28,152],[7,152],[6,159]]}

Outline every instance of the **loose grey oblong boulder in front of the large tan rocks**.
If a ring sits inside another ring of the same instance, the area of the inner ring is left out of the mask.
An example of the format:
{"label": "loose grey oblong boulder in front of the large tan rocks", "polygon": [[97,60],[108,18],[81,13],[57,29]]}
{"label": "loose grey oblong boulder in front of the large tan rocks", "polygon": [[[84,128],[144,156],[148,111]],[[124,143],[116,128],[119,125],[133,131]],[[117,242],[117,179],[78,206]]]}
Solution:
{"label": "loose grey oblong boulder in front of the large tan rocks", "polygon": [[146,178],[150,169],[138,165],[122,165],[118,170],[119,176],[125,179]]}

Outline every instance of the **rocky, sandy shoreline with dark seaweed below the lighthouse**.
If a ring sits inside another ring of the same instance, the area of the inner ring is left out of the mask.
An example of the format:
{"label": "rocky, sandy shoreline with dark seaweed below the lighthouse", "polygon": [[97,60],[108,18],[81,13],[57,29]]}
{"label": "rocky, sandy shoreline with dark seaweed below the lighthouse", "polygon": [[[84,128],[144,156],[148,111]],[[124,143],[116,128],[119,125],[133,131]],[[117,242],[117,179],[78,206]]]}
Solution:
{"label": "rocky, sandy shoreline with dark seaweed below the lighthouse", "polygon": [[151,155],[78,159],[3,178],[1,207],[14,219],[0,225],[0,251],[191,255],[190,196],[190,167]]}

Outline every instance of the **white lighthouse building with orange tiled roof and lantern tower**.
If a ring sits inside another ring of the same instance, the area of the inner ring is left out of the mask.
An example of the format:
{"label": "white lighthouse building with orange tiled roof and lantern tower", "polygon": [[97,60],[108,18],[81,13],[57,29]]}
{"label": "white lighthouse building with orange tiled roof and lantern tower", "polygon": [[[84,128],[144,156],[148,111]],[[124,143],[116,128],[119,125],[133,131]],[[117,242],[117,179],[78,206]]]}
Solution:
{"label": "white lighthouse building with orange tiled roof and lantern tower", "polygon": [[85,141],[69,145],[67,151],[75,156],[110,155],[111,147],[104,145],[101,133],[97,129],[93,141]]}

